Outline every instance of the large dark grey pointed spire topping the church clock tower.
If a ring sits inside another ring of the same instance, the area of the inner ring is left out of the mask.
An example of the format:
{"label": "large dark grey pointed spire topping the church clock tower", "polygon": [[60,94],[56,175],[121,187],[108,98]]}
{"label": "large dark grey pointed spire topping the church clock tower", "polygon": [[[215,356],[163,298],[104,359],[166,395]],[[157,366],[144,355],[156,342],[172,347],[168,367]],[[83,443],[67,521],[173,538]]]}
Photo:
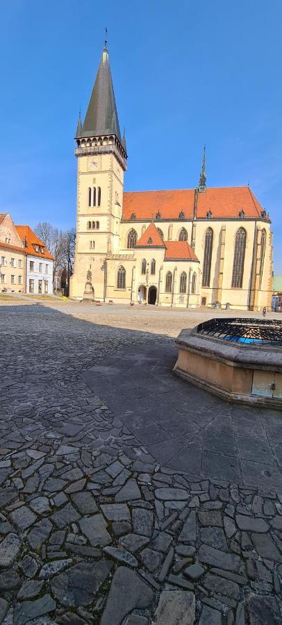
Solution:
{"label": "large dark grey pointed spire topping the church clock tower", "polygon": [[121,142],[108,49],[105,47],[88,104],[81,137],[117,135]]}

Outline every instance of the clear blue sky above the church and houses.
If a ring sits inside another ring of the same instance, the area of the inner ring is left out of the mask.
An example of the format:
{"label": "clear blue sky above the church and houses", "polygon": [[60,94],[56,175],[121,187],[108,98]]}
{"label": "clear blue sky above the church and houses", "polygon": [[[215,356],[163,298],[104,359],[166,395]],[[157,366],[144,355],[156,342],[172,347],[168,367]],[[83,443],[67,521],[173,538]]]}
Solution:
{"label": "clear blue sky above the church and houses", "polygon": [[246,185],[282,273],[281,0],[1,3],[0,212],[75,224],[74,133],[108,27],[126,190]]}

